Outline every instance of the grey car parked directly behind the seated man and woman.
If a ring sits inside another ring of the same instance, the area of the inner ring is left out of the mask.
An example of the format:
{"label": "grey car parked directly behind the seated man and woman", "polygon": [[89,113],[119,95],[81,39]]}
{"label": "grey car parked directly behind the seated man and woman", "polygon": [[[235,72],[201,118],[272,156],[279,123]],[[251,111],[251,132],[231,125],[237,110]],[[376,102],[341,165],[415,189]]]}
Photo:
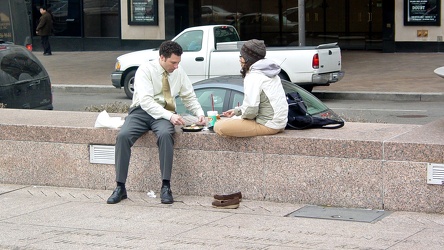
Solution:
{"label": "grey car parked directly behind the seated man and woman", "polygon": [[[308,108],[308,113],[315,117],[330,118],[342,121],[342,118],[328,108],[321,100],[305,89],[286,80],[281,80],[285,93],[298,92]],[[220,76],[202,80],[193,84],[194,91],[202,105],[205,114],[212,109],[213,97],[214,109],[222,114],[223,111],[242,105],[244,99],[244,85],[241,76]],[[179,114],[187,111],[180,100],[176,98],[176,110]]]}

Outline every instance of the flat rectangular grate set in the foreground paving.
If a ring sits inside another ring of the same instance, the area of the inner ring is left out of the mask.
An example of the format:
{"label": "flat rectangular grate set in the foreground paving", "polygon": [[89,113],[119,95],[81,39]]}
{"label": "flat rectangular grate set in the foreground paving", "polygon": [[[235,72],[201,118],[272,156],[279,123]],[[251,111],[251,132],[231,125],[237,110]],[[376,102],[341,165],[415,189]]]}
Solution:
{"label": "flat rectangular grate set in the foreground paving", "polygon": [[382,219],[389,213],[390,212],[384,210],[305,206],[286,215],[286,217],[304,217],[372,223]]}

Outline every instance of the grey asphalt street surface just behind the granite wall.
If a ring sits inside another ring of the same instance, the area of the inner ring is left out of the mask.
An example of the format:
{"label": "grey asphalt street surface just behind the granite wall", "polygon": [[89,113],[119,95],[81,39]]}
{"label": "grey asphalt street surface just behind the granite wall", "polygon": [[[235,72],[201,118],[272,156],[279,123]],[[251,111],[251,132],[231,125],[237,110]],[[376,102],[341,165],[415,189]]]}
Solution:
{"label": "grey asphalt street surface just behind the granite wall", "polygon": [[[54,91],[54,110],[89,111],[101,106],[129,105],[123,90],[110,93],[76,93]],[[349,122],[427,124],[444,116],[442,102],[322,100]]]}

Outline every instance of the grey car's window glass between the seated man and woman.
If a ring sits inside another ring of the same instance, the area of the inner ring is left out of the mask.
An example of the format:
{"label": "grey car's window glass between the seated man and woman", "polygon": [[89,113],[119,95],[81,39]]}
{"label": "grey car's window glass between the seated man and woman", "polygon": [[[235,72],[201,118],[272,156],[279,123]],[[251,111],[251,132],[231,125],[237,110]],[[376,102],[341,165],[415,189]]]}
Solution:
{"label": "grey car's window glass between the seated man and woman", "polygon": [[[222,114],[225,111],[224,100],[230,90],[220,88],[205,88],[195,91],[197,100],[199,101],[205,114],[207,111],[213,109],[211,98],[213,98],[214,110]],[[190,112],[185,108],[182,100],[176,97],[176,111],[178,114],[189,114]]]}

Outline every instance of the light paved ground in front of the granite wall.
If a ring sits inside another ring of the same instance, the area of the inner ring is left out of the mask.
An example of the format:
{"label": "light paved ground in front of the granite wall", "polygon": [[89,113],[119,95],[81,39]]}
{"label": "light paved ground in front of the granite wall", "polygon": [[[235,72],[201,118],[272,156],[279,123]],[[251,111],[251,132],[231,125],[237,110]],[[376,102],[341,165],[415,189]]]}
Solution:
{"label": "light paved ground in front of the granite wall", "polygon": [[243,200],[238,209],[216,209],[211,207],[212,197],[176,196],[174,204],[163,205],[158,197],[130,192],[129,199],[108,205],[110,194],[109,190],[0,185],[0,249],[444,247],[443,214],[393,212],[367,223],[336,220],[341,219],[338,215],[286,216],[305,204]]}

